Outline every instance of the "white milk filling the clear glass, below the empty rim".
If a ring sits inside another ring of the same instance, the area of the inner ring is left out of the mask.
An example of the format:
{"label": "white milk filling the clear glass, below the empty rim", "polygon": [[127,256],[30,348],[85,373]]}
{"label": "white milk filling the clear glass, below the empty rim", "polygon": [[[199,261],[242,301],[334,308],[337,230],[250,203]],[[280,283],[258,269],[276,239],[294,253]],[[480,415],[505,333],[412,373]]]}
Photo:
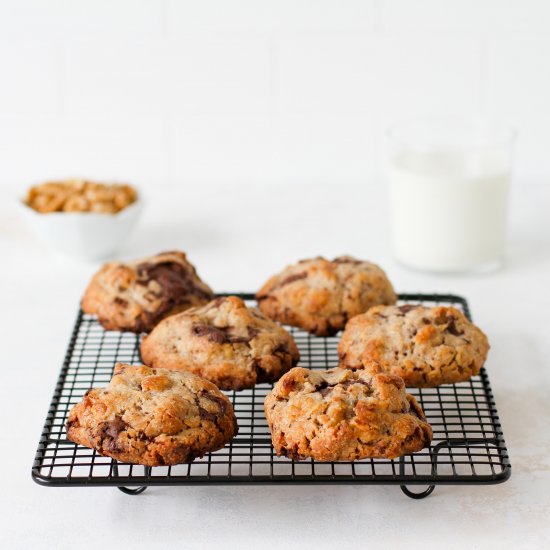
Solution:
{"label": "white milk filling the clear glass, below the empty rim", "polygon": [[505,154],[400,152],[389,175],[398,260],[447,272],[500,263],[510,182]]}

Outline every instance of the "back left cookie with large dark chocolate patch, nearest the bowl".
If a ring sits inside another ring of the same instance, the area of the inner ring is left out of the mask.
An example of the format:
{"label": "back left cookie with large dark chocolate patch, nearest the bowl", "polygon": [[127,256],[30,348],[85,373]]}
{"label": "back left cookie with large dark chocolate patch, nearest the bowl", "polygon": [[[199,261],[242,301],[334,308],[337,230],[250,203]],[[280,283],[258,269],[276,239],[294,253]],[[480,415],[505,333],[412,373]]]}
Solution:
{"label": "back left cookie with large dark chocolate patch, nearest the bowl", "polygon": [[162,252],[142,260],[105,264],[92,278],[82,310],[97,315],[107,330],[139,333],[213,297],[183,252]]}

